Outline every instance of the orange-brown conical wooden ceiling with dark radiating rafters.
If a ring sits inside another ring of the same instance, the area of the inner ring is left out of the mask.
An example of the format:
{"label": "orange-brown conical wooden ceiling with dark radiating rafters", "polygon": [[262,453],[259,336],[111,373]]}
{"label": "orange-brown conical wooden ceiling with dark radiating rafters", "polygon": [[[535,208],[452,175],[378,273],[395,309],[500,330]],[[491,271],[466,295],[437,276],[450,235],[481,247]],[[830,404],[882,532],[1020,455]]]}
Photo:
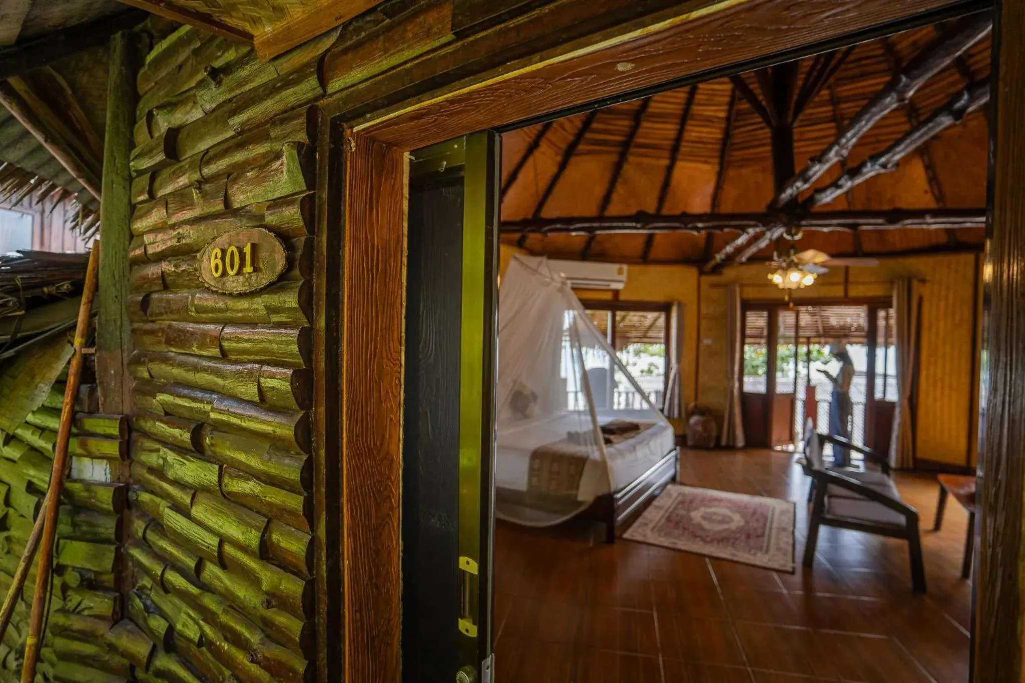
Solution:
{"label": "orange-brown conical wooden ceiling with dark radiating rafters", "polygon": [[[895,73],[956,30],[956,24],[935,25],[826,55],[835,73],[814,93],[793,126],[795,168],[801,170],[832,142]],[[834,165],[812,189],[828,185],[844,168],[887,148],[954,93],[985,81],[989,51],[987,36],[962,52],[906,105],[875,123],[858,140],[847,164]],[[806,79],[809,71],[822,68],[824,59],[801,60],[797,86],[813,80]],[[741,87],[746,85],[764,101],[760,76],[764,74],[743,75]],[[982,106],[905,156],[896,170],[869,178],[816,211],[979,209],[981,214],[986,205],[987,135]],[[537,218],[764,213],[775,196],[770,128],[735,81],[727,78],[506,133],[502,161],[505,230]],[[797,247],[833,255],[971,249],[982,244],[983,231],[982,227],[809,229]],[[704,263],[738,234],[736,230],[654,237],[535,231],[523,237],[509,231],[502,240],[561,257]],[[753,258],[771,255],[769,246]]]}

